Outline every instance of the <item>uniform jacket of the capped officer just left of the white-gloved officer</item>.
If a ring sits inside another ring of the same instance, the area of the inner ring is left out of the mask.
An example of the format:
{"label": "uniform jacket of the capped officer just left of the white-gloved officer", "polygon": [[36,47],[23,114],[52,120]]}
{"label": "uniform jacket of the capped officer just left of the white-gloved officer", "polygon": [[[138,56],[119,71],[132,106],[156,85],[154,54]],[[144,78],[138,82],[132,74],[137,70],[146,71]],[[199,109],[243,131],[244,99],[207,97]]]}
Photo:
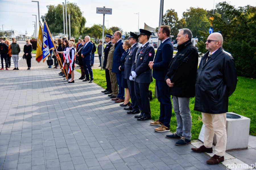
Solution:
{"label": "uniform jacket of the capped officer just left of the white-gloved officer", "polygon": [[131,67],[135,61],[136,52],[139,49],[140,45],[137,42],[133,45],[133,47],[129,50],[129,54],[125,59],[125,67],[124,67],[124,76],[123,78],[129,79],[131,74]]}

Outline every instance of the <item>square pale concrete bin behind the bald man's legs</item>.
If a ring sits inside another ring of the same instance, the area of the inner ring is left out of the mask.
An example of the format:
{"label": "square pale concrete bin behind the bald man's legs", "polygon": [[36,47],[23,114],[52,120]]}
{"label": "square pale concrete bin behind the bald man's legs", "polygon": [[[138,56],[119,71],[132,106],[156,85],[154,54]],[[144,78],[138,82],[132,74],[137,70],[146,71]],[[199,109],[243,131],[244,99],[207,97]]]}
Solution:
{"label": "square pale concrete bin behind the bald man's legs", "polygon": [[[249,141],[250,119],[233,112],[227,112],[227,150],[247,149]],[[202,126],[198,139],[204,141],[205,126]],[[216,135],[213,145],[216,144]]]}

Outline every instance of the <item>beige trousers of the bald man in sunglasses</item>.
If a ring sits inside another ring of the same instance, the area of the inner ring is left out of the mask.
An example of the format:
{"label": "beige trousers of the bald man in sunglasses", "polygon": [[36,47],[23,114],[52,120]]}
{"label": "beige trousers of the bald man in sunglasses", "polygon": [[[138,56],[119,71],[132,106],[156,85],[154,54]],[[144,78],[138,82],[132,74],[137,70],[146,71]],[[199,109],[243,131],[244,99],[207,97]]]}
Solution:
{"label": "beige trousers of the bald man in sunglasses", "polygon": [[213,137],[215,133],[217,139],[215,154],[218,156],[224,156],[227,144],[226,113],[209,114],[202,112],[202,121],[205,125],[205,147],[212,147]]}

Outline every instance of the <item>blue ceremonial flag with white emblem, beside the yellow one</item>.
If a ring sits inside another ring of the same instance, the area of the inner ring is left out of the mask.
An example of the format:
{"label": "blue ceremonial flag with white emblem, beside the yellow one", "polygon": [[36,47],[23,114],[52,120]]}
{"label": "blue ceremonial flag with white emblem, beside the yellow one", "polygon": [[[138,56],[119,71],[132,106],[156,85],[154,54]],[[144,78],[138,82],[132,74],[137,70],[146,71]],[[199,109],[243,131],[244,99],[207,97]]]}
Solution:
{"label": "blue ceremonial flag with white emblem, beside the yellow one", "polygon": [[43,62],[46,60],[46,58],[50,55],[50,50],[54,48],[53,43],[51,41],[50,31],[46,27],[46,23],[44,23],[44,34],[43,34]]}

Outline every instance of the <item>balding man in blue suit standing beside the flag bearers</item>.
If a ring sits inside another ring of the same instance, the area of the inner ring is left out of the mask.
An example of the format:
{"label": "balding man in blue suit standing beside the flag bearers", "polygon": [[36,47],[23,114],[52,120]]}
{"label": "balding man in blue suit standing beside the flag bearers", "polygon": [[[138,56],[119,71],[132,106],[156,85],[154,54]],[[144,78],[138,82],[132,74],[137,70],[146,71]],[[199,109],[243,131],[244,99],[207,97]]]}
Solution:
{"label": "balding man in blue suit standing beside the flag bearers", "polygon": [[[92,66],[91,66],[91,54],[92,54],[92,48],[93,44],[90,42],[90,37],[87,35],[84,37],[85,44],[81,52],[81,57],[83,58],[83,66],[84,66],[84,72],[86,79],[83,81],[89,81],[89,83],[93,82],[93,75],[92,75]],[[91,77],[91,80],[89,78],[89,74]]]}

